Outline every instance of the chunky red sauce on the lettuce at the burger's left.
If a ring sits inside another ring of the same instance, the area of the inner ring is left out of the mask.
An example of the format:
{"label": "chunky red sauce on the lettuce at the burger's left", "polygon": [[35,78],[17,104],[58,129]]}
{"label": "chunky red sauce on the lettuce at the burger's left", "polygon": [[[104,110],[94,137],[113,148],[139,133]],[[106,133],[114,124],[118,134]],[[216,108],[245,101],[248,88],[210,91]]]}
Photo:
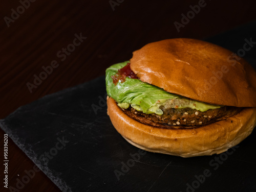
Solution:
{"label": "chunky red sauce on the lettuce at the burger's left", "polygon": [[131,79],[138,79],[134,71],[131,69],[130,65],[131,63],[127,63],[123,68],[118,69],[116,75],[111,76],[115,85],[118,83],[119,80],[121,81],[121,83],[123,83],[126,77],[129,77]]}

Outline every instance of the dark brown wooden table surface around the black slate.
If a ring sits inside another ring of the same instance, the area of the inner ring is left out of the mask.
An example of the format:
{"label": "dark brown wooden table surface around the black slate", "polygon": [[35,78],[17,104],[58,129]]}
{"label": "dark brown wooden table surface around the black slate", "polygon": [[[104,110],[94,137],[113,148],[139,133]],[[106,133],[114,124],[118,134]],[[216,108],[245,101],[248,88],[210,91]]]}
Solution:
{"label": "dark brown wooden table surface around the black slate", "polygon": [[[201,39],[255,20],[255,7],[252,0],[1,1],[0,118],[46,94],[104,75],[106,67],[130,59],[146,43]],[[181,14],[190,19],[182,22]],[[3,160],[2,130],[0,135]],[[8,185],[17,188],[34,163],[11,139],[8,148]],[[0,191],[15,191],[4,188],[3,165],[0,170]],[[41,171],[19,188],[59,191]]]}

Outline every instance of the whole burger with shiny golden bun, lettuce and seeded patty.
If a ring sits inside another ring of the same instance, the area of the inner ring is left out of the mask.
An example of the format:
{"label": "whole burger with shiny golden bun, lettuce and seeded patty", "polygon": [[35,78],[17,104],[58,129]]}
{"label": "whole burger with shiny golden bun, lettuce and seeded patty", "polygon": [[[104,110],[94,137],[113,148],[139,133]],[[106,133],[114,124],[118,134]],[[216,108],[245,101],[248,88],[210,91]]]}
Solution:
{"label": "whole burger with shiny golden bun, lettuce and seeded patty", "polygon": [[106,69],[108,115],[132,145],[193,157],[238,145],[256,125],[256,72],[221,46],[187,38],[146,44]]}

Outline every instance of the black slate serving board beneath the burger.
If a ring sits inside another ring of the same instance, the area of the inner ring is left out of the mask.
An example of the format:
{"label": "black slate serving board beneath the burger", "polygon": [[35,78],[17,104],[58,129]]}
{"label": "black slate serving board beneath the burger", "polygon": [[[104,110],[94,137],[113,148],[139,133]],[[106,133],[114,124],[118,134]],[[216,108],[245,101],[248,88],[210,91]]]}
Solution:
{"label": "black slate serving board beneath the burger", "polygon": [[[256,22],[206,40],[236,53],[245,38],[256,41]],[[256,46],[245,55],[254,68],[255,51]],[[0,126],[62,191],[256,191],[255,131],[229,154],[181,158],[143,152],[116,132],[105,96],[100,77],[20,107]],[[131,160],[139,152],[140,159]],[[126,173],[118,180],[115,172],[121,171]]]}

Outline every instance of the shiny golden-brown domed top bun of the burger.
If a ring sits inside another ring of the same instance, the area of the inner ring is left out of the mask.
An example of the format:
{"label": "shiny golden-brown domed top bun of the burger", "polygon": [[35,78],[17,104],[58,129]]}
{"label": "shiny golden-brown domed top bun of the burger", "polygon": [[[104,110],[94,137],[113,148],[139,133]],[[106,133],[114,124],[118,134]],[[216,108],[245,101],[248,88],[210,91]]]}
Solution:
{"label": "shiny golden-brown domed top bun of the burger", "polygon": [[256,72],[243,58],[196,39],[166,39],[133,52],[141,81],[210,104],[256,107]]}

